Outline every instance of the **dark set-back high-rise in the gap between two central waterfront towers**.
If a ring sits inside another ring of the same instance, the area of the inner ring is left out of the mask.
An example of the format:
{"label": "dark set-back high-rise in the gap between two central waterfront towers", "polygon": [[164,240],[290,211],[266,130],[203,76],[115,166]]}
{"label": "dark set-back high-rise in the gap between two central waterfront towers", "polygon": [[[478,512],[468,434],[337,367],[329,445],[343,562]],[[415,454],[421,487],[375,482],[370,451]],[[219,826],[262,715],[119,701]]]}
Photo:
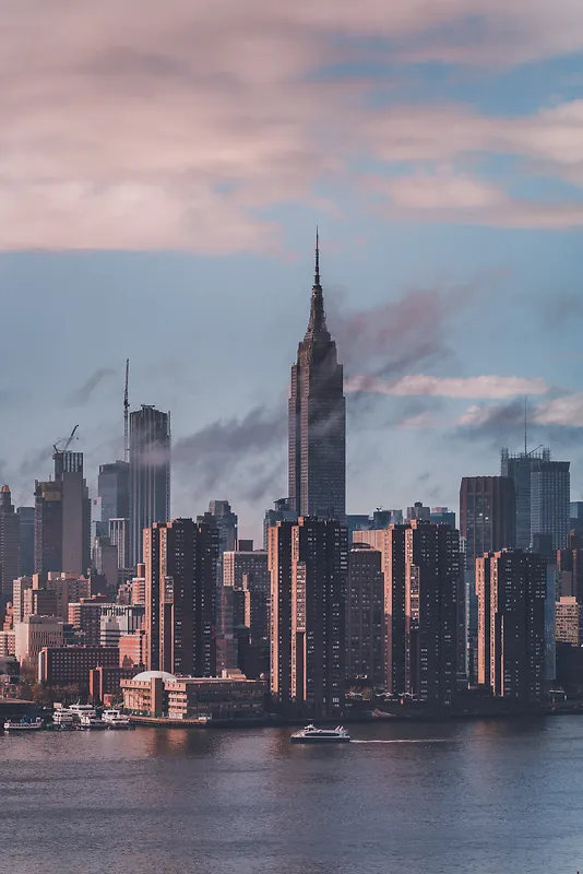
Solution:
{"label": "dark set-back high-rise in the gap between two central waterfront towers", "polygon": [[381,553],[354,544],[346,589],[346,678],[384,689],[384,576]]}

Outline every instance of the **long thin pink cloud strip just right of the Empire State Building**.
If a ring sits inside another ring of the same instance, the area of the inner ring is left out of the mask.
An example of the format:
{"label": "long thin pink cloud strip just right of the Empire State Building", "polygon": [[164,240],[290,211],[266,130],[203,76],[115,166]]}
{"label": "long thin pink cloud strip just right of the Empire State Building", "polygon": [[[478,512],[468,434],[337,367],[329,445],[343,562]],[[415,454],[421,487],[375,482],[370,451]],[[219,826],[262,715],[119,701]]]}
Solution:
{"label": "long thin pink cloud strip just right of the Empire State Building", "polygon": [[368,392],[396,397],[432,395],[440,398],[512,398],[515,394],[544,394],[549,390],[539,378],[477,376],[447,378],[437,376],[404,376],[393,382],[376,377],[354,376],[345,383],[347,392]]}

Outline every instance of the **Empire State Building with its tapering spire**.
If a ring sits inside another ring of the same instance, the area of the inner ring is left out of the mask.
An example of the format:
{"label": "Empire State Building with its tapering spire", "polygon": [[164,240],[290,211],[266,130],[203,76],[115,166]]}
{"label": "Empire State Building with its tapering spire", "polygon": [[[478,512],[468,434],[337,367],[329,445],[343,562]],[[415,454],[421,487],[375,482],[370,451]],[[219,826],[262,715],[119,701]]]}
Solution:
{"label": "Empire State Building with its tapering spire", "polygon": [[343,367],[326,328],[318,235],[310,320],[291,366],[289,504],[298,516],[345,521],[346,400]]}

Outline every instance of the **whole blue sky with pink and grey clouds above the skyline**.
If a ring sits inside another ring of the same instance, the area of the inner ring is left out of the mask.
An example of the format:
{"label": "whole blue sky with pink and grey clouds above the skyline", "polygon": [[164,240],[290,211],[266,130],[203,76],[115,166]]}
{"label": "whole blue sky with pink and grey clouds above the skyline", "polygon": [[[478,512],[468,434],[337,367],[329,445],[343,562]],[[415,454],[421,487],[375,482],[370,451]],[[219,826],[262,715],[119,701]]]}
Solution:
{"label": "whole blue sky with pink and grey clouds above the skyline", "polygon": [[0,480],[170,410],[172,515],[285,496],[320,228],[348,511],[503,446],[583,498],[580,0],[0,0]]}

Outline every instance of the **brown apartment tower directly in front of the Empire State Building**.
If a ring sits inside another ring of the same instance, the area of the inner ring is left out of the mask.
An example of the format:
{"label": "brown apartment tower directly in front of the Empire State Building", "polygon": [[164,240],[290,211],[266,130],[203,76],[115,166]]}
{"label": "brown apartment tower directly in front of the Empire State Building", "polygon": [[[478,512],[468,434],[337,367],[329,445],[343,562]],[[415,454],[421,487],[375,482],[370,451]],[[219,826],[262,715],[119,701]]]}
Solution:
{"label": "brown apartment tower directly in front of the Empire State Building", "polygon": [[270,531],[272,693],[312,718],[344,707],[347,552],[337,520],[300,517]]}

